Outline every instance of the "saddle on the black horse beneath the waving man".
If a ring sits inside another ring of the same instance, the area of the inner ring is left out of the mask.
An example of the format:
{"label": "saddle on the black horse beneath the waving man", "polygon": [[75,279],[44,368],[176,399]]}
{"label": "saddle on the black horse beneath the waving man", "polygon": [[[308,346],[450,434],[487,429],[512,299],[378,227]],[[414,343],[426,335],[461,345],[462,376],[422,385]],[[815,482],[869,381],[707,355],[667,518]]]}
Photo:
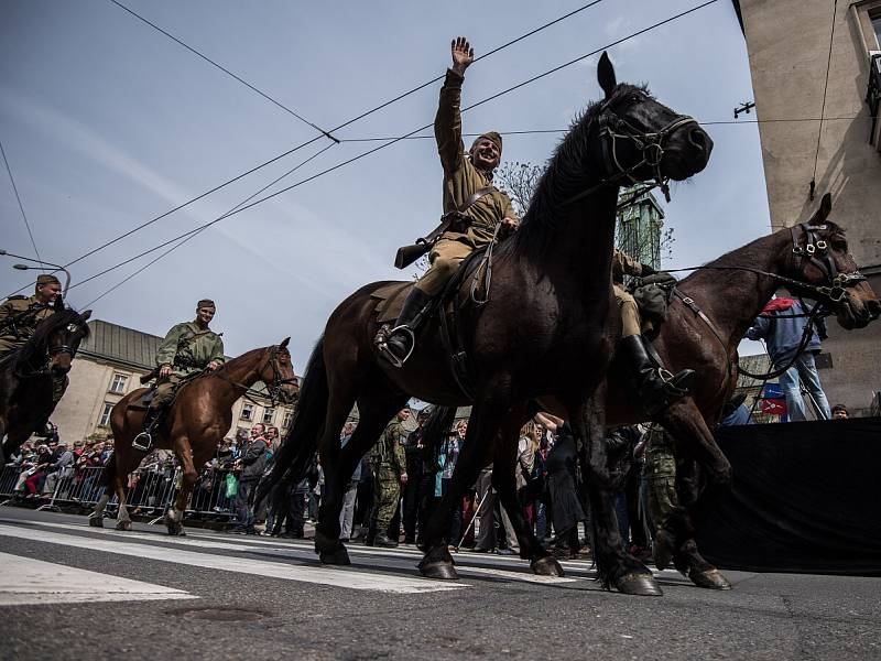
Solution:
{"label": "saddle on the black horse beneath the waving man", "polygon": [[[488,248],[489,246],[478,248],[463,260],[444,291],[429,304],[429,312],[426,314],[426,322],[437,317],[450,372],[468,399],[474,399],[474,370],[463,348],[459,313],[470,304],[480,305],[486,302],[487,292],[480,275]],[[413,285],[409,282],[390,282],[370,294],[371,299],[378,301],[374,313],[379,325],[393,324],[398,319],[411,286]]]}

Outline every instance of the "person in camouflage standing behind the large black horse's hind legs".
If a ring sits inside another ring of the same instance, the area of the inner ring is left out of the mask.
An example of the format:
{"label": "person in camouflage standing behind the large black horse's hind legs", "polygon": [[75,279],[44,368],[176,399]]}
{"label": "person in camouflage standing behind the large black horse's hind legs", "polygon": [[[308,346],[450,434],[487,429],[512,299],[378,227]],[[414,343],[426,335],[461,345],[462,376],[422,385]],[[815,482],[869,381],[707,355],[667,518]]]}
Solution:
{"label": "person in camouflage standing behind the large black horse's hind legs", "polygon": [[370,451],[370,465],[373,469],[373,513],[367,544],[370,546],[394,548],[396,539],[389,538],[389,524],[401,500],[401,485],[406,485],[406,456],[404,443],[407,432],[404,421],[410,410],[402,409],[382,432]]}

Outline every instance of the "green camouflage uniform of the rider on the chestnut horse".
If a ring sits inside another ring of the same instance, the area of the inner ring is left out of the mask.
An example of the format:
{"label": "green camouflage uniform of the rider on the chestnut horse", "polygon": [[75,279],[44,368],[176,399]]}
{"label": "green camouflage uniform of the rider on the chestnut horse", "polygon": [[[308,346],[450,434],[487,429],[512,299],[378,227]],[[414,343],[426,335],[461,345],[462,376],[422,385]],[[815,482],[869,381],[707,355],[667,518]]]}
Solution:
{"label": "green camouflage uniform of the rider on the chestnut horse", "polygon": [[175,387],[186,377],[200,372],[211,361],[221,365],[224,340],[210,328],[202,328],[196,322],[177,324],[156,351],[156,366],[168,365],[172,373],[156,382],[151,408],[161,408],[174,399]]}

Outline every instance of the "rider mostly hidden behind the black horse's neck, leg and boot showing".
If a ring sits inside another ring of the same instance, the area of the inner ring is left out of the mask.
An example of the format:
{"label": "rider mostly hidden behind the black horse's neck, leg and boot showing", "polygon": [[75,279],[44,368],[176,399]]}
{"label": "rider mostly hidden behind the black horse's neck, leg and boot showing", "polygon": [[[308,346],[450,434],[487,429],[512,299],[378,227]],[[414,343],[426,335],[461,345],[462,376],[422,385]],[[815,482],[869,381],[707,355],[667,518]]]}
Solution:
{"label": "rider mostly hidden behind the black horse's neck, leg and boot showing", "polygon": [[650,342],[642,335],[640,311],[633,296],[623,288],[624,275],[645,278],[655,270],[641,264],[620,250],[612,257],[612,291],[621,313],[621,340],[618,350],[627,357],[632,368],[637,393],[645,412],[654,415],[675,400],[686,395],[694,378],[694,370],[684,369],[671,373],[654,351],[649,351]]}

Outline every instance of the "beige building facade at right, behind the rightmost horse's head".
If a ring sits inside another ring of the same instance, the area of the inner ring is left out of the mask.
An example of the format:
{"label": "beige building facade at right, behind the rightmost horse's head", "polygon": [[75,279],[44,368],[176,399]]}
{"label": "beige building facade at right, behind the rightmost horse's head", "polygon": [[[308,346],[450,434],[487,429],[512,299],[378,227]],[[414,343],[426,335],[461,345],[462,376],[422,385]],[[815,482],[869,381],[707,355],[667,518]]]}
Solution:
{"label": "beige building facade at right, behind the rightmost horse's head", "polygon": [[[830,219],[881,292],[881,0],[735,0],[750,71],[772,229]],[[830,319],[818,357],[830,404],[868,415],[881,390],[881,322]]]}

